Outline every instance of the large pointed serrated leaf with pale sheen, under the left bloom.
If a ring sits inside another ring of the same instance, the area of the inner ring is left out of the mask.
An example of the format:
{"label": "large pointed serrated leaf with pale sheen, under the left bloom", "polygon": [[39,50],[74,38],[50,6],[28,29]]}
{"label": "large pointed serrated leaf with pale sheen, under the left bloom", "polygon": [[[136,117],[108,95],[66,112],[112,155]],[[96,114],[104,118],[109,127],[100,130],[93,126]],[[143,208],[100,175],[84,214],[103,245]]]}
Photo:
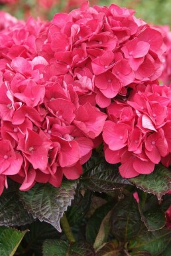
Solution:
{"label": "large pointed serrated leaf with pale sheen, under the left bloom", "polygon": [[36,184],[27,192],[19,192],[19,196],[28,212],[61,232],[60,218],[74,199],[75,190],[76,182],[71,181],[63,182],[60,188],[50,184]]}

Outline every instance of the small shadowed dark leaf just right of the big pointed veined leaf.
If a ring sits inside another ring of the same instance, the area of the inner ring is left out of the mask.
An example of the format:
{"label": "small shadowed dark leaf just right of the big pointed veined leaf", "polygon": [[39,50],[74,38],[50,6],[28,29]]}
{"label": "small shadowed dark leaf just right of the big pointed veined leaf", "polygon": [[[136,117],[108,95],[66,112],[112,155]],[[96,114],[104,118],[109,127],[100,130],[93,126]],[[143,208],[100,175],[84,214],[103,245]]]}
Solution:
{"label": "small shadowed dark leaf just right of the big pointed veined leaf", "polygon": [[75,225],[82,221],[85,213],[89,210],[89,205],[91,203],[91,192],[88,190],[85,191],[85,194],[82,195],[77,191],[72,206],[66,212],[66,217],[70,225]]}

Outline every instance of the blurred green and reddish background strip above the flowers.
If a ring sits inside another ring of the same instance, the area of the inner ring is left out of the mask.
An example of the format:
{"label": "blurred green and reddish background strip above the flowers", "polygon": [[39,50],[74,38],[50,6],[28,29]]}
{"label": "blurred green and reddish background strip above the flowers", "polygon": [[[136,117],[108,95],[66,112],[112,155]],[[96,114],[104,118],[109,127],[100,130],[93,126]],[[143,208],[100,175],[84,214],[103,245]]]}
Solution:
{"label": "blurred green and reddish background strip above the flowers", "polygon": [[[79,7],[84,0],[11,0],[15,3],[6,4],[2,0],[1,9],[8,11],[19,19],[28,16],[52,19],[54,13],[68,12]],[[10,0],[7,0],[10,1]],[[136,16],[155,25],[171,25],[171,0],[90,0],[91,5],[110,5],[115,3],[137,11]]]}

